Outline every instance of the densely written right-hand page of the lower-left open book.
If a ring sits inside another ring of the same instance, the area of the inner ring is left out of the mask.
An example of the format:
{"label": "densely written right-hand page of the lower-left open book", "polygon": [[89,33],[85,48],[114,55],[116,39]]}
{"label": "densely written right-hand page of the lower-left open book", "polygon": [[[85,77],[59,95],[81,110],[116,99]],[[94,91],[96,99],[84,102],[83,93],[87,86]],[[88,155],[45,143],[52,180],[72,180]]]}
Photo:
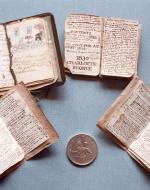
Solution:
{"label": "densely written right-hand page of the lower-left open book", "polygon": [[[32,106],[30,102],[33,102]],[[27,159],[57,139],[55,130],[48,121],[48,124],[45,124],[46,117],[39,110],[31,94],[21,84],[10,90],[0,101],[0,117],[5,120],[7,128],[23,149]],[[43,123],[41,118],[44,120]],[[50,130],[51,136],[44,124]]]}

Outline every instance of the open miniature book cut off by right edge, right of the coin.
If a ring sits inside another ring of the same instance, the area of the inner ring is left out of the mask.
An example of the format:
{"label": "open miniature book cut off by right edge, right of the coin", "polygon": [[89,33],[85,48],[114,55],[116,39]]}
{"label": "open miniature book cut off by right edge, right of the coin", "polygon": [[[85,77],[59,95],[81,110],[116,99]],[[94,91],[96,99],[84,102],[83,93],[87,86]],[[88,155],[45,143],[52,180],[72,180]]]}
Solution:
{"label": "open miniature book cut off by right edge, right of the coin", "polygon": [[97,125],[150,171],[150,88],[139,78],[132,79]]}

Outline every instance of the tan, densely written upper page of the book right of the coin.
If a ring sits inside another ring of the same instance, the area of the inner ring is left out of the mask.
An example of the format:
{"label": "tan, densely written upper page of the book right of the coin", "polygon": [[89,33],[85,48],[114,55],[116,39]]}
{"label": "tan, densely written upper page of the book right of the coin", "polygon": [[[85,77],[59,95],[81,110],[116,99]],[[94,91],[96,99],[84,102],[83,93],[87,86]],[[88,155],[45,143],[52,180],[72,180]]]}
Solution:
{"label": "tan, densely written upper page of the book right of the coin", "polygon": [[114,110],[105,127],[128,147],[138,138],[149,121],[150,92],[142,83]]}

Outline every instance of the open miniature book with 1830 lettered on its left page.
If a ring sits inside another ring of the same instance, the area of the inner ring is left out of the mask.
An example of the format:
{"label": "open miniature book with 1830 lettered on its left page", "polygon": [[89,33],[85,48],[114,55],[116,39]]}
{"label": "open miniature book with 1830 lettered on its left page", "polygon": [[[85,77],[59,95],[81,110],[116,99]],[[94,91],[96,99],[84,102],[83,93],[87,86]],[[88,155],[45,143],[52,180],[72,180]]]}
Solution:
{"label": "open miniature book with 1830 lettered on its left page", "polygon": [[137,21],[70,14],[65,23],[66,72],[99,77],[135,76],[140,28]]}

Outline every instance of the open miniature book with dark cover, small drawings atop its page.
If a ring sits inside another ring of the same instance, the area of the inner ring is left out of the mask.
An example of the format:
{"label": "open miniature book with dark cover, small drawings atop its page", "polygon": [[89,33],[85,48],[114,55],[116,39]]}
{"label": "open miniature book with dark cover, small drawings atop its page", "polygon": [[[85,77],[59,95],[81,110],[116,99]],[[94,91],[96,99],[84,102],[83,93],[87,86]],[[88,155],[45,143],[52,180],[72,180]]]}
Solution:
{"label": "open miniature book with dark cover, small drawings atop its page", "polygon": [[63,80],[50,13],[0,24],[0,95],[21,81],[29,90],[36,90]]}

